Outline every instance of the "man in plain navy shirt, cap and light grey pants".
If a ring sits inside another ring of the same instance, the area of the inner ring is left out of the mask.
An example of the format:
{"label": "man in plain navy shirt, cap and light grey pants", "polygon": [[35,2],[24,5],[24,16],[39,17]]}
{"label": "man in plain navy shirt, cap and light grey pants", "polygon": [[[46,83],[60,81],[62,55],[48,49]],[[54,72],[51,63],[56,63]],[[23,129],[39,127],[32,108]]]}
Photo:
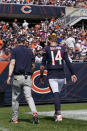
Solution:
{"label": "man in plain navy shirt, cap and light grey pants", "polygon": [[18,37],[18,46],[12,49],[7,84],[12,81],[12,121],[18,123],[19,95],[23,88],[24,95],[33,115],[33,124],[38,124],[38,114],[32,98],[32,68],[35,68],[32,50],[24,46],[24,37]]}

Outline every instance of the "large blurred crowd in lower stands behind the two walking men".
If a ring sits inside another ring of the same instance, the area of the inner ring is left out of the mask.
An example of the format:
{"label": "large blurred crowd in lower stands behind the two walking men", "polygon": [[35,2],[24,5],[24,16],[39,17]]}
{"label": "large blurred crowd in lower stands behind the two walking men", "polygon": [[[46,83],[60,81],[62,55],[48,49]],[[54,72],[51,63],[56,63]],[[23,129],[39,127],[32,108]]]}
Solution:
{"label": "large blurred crowd in lower stands behind the two walking men", "polygon": [[43,48],[49,45],[49,35],[57,35],[57,43],[66,46],[68,57],[73,61],[87,60],[87,29],[81,27],[64,26],[64,19],[46,19],[31,27],[24,20],[18,24],[14,19],[12,25],[0,22],[0,60],[10,60],[11,50],[18,45],[20,38],[24,38],[24,45],[31,48],[35,55],[35,62],[41,63]]}

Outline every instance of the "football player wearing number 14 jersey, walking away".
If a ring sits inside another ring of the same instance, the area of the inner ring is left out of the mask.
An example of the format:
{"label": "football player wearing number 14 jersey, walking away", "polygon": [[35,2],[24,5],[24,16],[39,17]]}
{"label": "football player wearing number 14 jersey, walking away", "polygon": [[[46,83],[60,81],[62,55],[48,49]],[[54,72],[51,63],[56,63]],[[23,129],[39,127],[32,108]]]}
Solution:
{"label": "football player wearing number 14 jersey, walking away", "polygon": [[48,71],[47,77],[50,88],[54,96],[55,105],[55,121],[62,121],[61,115],[61,102],[60,92],[64,85],[64,61],[71,72],[72,82],[77,81],[77,77],[74,73],[72,64],[69,61],[67,55],[67,49],[63,46],[57,45],[57,36],[55,33],[49,37],[50,46],[44,48],[42,65],[40,66],[41,76],[43,75],[44,69]]}

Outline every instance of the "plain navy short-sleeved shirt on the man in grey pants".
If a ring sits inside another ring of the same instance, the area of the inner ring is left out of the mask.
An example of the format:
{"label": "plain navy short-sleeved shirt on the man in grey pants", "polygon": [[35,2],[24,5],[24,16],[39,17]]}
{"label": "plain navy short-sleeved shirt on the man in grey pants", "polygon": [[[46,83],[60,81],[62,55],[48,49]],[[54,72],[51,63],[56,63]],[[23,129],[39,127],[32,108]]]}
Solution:
{"label": "plain navy short-sleeved shirt on the man in grey pants", "polygon": [[15,59],[14,74],[31,73],[32,63],[35,61],[31,49],[23,45],[14,48],[11,53],[11,59]]}

